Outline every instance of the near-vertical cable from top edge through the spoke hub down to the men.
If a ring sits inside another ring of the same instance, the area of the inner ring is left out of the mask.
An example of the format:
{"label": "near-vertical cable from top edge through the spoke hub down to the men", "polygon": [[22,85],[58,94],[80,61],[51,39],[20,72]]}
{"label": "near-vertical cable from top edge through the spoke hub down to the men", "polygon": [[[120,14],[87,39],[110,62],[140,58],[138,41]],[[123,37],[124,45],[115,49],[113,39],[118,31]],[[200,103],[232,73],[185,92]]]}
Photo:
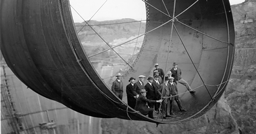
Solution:
{"label": "near-vertical cable from top edge through the spoke hub down to the men", "polygon": [[[168,47],[168,52],[167,52],[167,59],[166,59],[166,62],[165,62],[165,73],[166,73],[166,68],[167,68],[167,63],[168,63],[168,60],[169,60],[169,52],[170,52],[170,47],[171,47],[171,37],[172,37],[172,32],[173,32],[173,23],[175,21],[174,19],[174,15],[175,15],[175,5],[176,5],[176,0],[174,0],[174,6],[173,6],[173,19],[171,19],[171,34],[170,34],[170,41],[169,41],[169,47]],[[163,97],[163,88],[164,88],[164,82],[165,82],[165,77],[163,77],[163,87],[162,87],[162,93],[161,93],[161,98]],[[161,109],[161,105],[159,106],[159,111]],[[158,113],[158,117],[159,117],[159,114],[161,112]],[[163,115],[162,115],[163,116]]]}

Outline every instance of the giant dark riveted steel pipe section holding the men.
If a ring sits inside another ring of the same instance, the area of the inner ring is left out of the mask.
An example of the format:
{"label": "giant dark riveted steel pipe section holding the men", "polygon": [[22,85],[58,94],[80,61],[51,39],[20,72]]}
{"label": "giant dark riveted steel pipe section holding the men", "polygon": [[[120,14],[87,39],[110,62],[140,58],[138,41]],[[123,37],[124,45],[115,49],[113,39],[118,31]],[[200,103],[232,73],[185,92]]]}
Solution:
{"label": "giant dark riveted steel pipe section holding the men", "polygon": [[[177,0],[175,16],[194,2],[196,0]],[[164,3],[172,15],[174,0],[164,0]],[[124,74],[126,85],[131,76],[152,75],[155,63],[167,72],[171,64],[177,62],[182,78],[192,88],[200,86],[194,95],[180,95],[187,112],[163,121],[152,120],[131,109],[101,80],[78,39],[68,0],[1,0],[0,4],[1,51],[14,74],[33,91],[85,115],[157,124],[187,121],[209,110],[229,79],[234,27],[228,0],[198,0],[175,19],[173,23],[188,53],[175,29],[170,36],[172,22],[169,22],[145,35],[132,69]],[[146,32],[170,20],[161,0],[147,0],[146,11]],[[196,70],[205,85],[201,86],[203,82]],[[186,91],[182,85],[178,88],[179,93]]]}

